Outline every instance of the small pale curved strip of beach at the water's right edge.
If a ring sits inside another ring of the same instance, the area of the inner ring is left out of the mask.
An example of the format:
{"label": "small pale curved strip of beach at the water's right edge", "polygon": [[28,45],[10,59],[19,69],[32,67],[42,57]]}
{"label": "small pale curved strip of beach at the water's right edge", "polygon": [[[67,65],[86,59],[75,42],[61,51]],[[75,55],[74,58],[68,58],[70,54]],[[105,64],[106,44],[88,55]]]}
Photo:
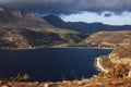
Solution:
{"label": "small pale curved strip of beach at the water's right edge", "polygon": [[96,60],[95,60],[95,67],[99,71],[99,72],[106,72],[106,73],[108,73],[109,71],[108,70],[106,70],[106,69],[104,69],[103,67],[103,65],[100,64],[100,60],[102,58],[99,57],[99,58],[96,58]]}

